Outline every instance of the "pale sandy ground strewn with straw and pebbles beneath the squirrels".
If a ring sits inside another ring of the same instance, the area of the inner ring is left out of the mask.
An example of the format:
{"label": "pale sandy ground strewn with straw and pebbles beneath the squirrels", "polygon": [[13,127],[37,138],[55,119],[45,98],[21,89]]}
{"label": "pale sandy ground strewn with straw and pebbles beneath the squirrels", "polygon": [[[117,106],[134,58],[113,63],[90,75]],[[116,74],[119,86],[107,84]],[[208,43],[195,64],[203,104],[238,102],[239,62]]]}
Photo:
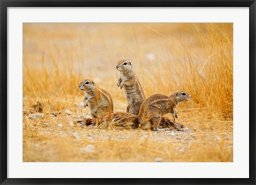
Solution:
{"label": "pale sandy ground strewn with straw and pebbles beneath the squirrels", "polygon": [[[116,107],[122,105],[116,110],[124,110],[124,103]],[[186,126],[182,131],[82,129],[74,121],[88,118],[89,108],[76,104],[73,110],[77,111],[69,115],[25,113],[23,162],[233,161],[233,122],[228,120],[193,119],[195,110],[182,110],[178,111],[179,123]]]}

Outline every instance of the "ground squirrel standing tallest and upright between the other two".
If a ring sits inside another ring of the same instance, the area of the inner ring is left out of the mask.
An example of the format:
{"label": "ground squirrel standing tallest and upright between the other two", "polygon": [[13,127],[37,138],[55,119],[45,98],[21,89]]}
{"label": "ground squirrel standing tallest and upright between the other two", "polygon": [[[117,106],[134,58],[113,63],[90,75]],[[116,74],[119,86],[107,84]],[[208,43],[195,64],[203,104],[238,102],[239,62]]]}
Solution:
{"label": "ground squirrel standing tallest and upright between the other two", "polygon": [[116,69],[120,71],[117,86],[124,87],[124,94],[128,102],[126,112],[138,115],[141,103],[146,99],[145,92],[137,78],[130,60],[119,60]]}

